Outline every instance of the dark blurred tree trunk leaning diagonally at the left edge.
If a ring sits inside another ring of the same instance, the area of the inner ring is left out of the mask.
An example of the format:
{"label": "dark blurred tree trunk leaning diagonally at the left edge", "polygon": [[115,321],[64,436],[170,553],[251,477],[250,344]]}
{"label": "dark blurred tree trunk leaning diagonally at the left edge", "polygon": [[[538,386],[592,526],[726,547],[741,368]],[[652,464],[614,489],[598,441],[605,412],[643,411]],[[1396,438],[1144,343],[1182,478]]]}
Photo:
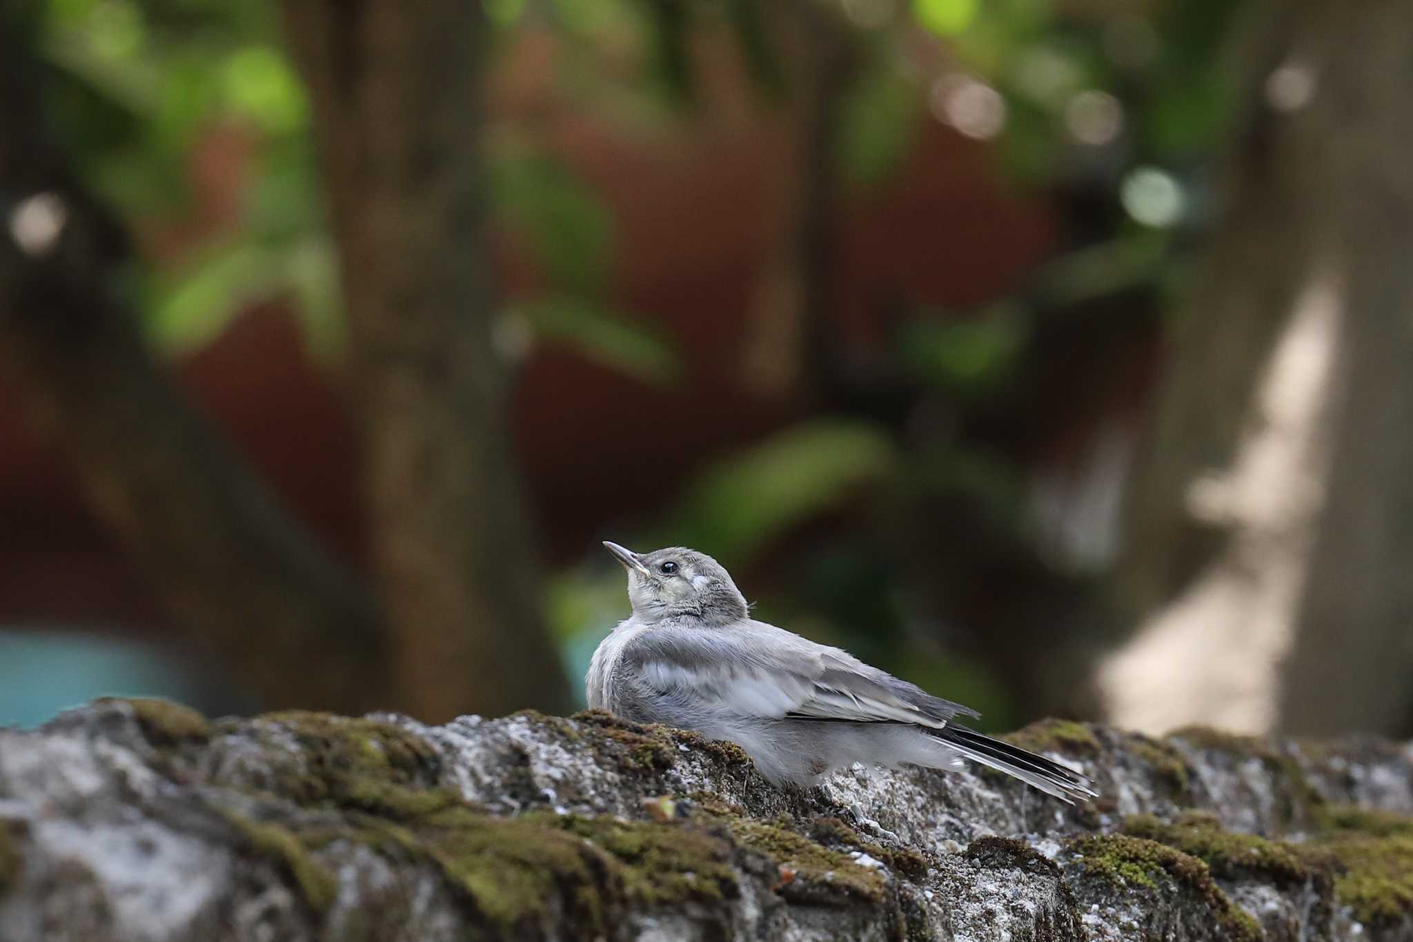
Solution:
{"label": "dark blurred tree trunk leaning diagonally at the left edge", "polygon": [[259,702],[377,705],[376,603],[154,362],[114,290],[126,237],[49,138],[32,66],[0,32],[0,364],[175,626]]}

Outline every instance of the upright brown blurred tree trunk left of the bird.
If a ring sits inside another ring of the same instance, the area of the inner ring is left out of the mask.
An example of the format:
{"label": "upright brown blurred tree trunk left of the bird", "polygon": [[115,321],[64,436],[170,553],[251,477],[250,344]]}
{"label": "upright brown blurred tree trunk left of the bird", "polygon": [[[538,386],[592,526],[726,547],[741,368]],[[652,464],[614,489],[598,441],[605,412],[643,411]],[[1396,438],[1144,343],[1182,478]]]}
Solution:
{"label": "upright brown blurred tree trunk left of the bird", "polygon": [[285,10],[342,254],[394,705],[427,720],[562,709],[492,345],[482,6]]}

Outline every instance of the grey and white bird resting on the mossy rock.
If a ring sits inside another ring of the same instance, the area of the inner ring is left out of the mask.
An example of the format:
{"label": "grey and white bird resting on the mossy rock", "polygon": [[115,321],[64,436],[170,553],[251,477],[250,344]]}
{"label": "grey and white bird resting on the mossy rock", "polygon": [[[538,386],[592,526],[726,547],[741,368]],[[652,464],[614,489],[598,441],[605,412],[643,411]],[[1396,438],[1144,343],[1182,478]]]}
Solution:
{"label": "grey and white bird resting on the mossy rock", "polygon": [[777,785],[811,785],[853,763],[959,768],[969,758],[1061,801],[1095,795],[1080,773],[957,725],[976,710],[753,620],[711,556],[603,545],[627,569],[633,614],[593,652],[591,708],[731,740]]}

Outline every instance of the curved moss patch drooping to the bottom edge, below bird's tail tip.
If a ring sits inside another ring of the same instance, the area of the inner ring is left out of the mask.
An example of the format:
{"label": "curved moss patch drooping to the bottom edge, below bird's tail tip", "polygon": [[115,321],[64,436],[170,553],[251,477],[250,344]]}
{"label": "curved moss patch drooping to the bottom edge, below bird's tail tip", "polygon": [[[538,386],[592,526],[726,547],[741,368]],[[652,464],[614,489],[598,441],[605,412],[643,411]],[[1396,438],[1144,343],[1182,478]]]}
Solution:
{"label": "curved moss patch drooping to the bottom edge, below bird's tail tip", "polygon": [[1087,873],[1118,887],[1157,890],[1166,876],[1204,904],[1229,942],[1259,942],[1256,919],[1235,905],[1212,880],[1207,864],[1167,845],[1132,835],[1087,835],[1068,843]]}

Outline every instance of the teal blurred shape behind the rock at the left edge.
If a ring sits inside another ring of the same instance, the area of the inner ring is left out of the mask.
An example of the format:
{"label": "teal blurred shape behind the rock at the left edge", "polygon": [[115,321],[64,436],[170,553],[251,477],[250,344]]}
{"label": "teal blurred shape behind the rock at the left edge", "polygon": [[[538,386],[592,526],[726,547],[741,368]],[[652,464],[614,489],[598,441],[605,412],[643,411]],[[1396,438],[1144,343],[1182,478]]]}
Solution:
{"label": "teal blurred shape behind the rock at the left edge", "polygon": [[164,696],[208,713],[232,706],[150,645],[93,631],[0,628],[0,726],[37,726],[95,696]]}

